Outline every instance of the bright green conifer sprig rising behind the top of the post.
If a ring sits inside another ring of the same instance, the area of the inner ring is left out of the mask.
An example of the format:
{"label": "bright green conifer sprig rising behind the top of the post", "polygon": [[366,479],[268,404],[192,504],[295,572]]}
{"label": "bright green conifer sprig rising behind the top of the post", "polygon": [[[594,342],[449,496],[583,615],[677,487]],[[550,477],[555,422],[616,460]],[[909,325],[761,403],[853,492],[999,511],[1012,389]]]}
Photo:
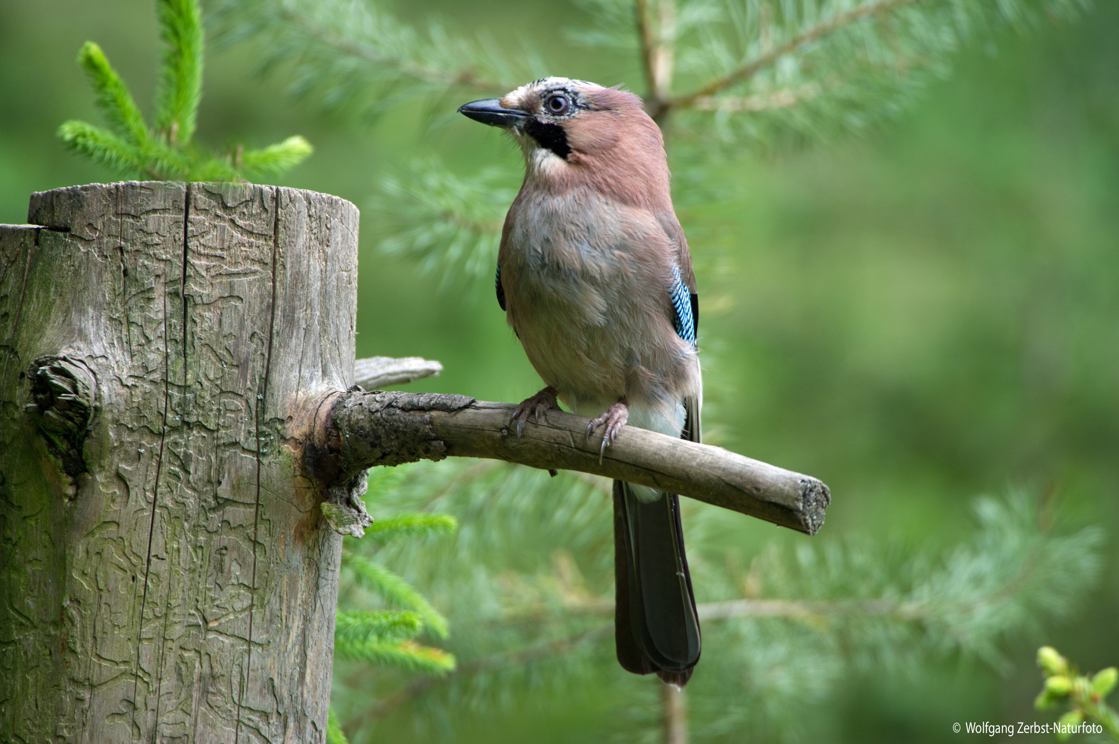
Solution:
{"label": "bright green conifer sprig rising behind the top of the post", "polygon": [[194,144],[201,100],[203,25],[198,0],[158,0],[161,53],[156,126],[149,129],[128,86],[101,47],[86,41],[78,65],[96,93],[109,129],[67,121],[58,136],[83,154],[125,177],[153,180],[236,181],[279,175],[311,153],[302,136],[262,150],[236,147],[210,154]]}

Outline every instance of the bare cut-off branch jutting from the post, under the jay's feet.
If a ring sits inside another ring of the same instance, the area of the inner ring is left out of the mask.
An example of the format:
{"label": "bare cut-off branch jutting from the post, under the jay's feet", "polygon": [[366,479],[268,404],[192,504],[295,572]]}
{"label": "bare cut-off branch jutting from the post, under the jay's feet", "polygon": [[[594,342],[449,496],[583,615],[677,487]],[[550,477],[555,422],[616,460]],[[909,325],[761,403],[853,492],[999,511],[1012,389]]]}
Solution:
{"label": "bare cut-off branch jutting from the post, under the jay's feet", "polygon": [[599,456],[587,418],[549,411],[517,434],[516,406],[462,395],[349,392],[335,401],[309,448],[312,470],[347,480],[373,465],[445,456],[506,460],[544,470],[576,470],[652,486],[814,535],[830,501],[819,480],[722,448],[626,426]]}

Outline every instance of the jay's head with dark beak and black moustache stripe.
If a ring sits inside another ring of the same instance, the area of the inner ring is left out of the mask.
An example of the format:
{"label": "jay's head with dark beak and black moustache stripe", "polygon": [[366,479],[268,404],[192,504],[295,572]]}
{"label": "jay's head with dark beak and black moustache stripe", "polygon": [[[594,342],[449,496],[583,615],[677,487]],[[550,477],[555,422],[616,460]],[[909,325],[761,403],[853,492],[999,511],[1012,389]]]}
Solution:
{"label": "jay's head with dark beak and black moustache stripe", "polygon": [[612,173],[667,187],[660,129],[627,91],[545,77],[500,98],[472,101],[459,113],[510,133],[529,179],[567,182]]}

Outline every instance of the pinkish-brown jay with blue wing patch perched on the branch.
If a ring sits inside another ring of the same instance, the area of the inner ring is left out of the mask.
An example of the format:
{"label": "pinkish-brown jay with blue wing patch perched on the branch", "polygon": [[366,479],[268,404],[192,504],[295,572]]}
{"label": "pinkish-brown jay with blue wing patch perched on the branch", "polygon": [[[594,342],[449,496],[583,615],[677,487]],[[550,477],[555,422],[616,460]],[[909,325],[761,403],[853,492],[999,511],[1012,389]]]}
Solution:
{"label": "pinkish-brown jay with blue wing patch perched on the branch", "polygon": [[[459,109],[520,144],[525,181],[497,260],[497,300],[547,384],[509,422],[593,416],[600,456],[627,423],[699,441],[698,302],[660,129],[641,98],[545,77]],[[683,687],[699,621],[675,493],[613,484],[618,661]]]}

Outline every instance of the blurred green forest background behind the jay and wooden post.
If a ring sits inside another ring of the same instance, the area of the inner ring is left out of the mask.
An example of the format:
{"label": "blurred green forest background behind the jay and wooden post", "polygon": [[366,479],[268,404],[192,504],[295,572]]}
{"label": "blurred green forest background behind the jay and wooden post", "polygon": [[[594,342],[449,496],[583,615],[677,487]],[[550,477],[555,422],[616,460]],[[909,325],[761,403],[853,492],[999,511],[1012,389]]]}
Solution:
{"label": "blurred green forest background behind the jay and wooden post", "polygon": [[[404,23],[439,17],[486,32],[479,44],[504,54],[534,50],[549,74],[645,90],[636,50],[592,54],[562,32],[593,28],[592,6],[379,7]],[[102,121],[74,58],[96,40],[150,111],[158,38],[150,0],[0,0],[0,223],[22,223],[34,191],[115,180],[55,136],[64,120]],[[323,105],[313,90],[290,95],[292,64],[262,73],[272,41],[246,38],[208,47],[197,139],[252,147],[300,133],[316,152],[279,182],[363,209],[358,356],[442,361],[440,377],[407,389],[508,402],[536,392],[492,298],[490,258],[474,273],[453,261],[425,272],[401,248],[406,230],[383,244],[386,213],[424,168],[488,179],[506,195],[489,213],[504,215],[519,153],[453,115],[482,95]],[[1117,39],[1119,7],[1104,1],[963,44],[950,70],[866,126],[784,136],[778,121],[774,135],[714,144],[703,126],[666,128],[700,290],[705,440],[811,473],[833,493],[814,538],[686,505],[700,602],[833,602],[705,625],[687,696],[693,741],[975,738],[952,723],[1053,719],[1033,709],[1042,642],[1085,669],[1119,662]],[[459,668],[425,677],[340,661],[335,707],[350,741],[661,737],[659,682],[618,669],[601,632],[609,608],[599,605],[612,601],[601,483],[471,463],[382,480],[372,510],[458,519],[454,534],[352,549],[448,616],[450,635],[424,642],[454,652]],[[982,495],[995,499],[987,522],[975,512]],[[572,514],[556,516],[557,505]],[[1004,541],[1028,538],[1038,553],[991,547],[997,525],[1015,519],[1036,524]],[[1102,537],[1082,531],[1091,527]],[[1014,577],[1031,556],[1055,566],[1028,584],[1035,595],[953,620],[1000,592],[1028,593]],[[974,587],[990,596],[967,599]],[[342,602],[379,601],[363,591]],[[896,627],[821,609],[914,592],[956,609]]]}

